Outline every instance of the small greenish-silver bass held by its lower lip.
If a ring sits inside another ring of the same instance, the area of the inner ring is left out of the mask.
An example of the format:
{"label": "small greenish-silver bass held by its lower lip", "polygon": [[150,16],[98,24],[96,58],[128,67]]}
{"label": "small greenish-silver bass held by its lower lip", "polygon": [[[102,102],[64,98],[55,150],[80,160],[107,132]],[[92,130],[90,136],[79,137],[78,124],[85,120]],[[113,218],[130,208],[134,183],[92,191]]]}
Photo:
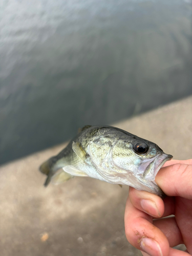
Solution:
{"label": "small greenish-silver bass held by its lower lip", "polygon": [[58,155],[39,167],[47,175],[45,186],[75,176],[91,177],[112,184],[129,185],[164,197],[155,177],[173,156],[161,148],[117,127],[86,125]]}

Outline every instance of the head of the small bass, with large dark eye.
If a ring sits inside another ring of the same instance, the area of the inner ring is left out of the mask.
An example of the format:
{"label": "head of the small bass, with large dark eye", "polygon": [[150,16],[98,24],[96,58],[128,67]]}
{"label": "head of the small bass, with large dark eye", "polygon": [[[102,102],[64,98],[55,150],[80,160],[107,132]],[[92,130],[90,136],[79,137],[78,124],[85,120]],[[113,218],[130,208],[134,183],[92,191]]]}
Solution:
{"label": "head of the small bass, with large dark eye", "polygon": [[143,190],[153,191],[158,195],[160,190],[155,177],[163,164],[172,158],[172,155],[165,154],[157,144],[136,136],[119,139],[112,151],[114,165],[120,170],[127,170],[127,180],[130,180],[130,175],[136,177],[132,186],[140,190],[146,186],[149,189],[145,187]]}

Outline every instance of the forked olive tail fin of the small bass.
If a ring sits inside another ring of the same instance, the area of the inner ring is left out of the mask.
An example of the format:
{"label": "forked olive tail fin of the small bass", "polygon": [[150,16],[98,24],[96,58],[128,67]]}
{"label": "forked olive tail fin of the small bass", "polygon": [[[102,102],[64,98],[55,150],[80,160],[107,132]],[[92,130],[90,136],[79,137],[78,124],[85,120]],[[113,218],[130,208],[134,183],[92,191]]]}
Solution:
{"label": "forked olive tail fin of the small bass", "polygon": [[50,183],[52,176],[55,174],[56,162],[57,162],[57,158],[51,157],[46,162],[44,162],[40,165],[40,167],[39,167],[40,172],[42,174],[47,175],[47,179],[46,179],[44,186],[47,186]]}

